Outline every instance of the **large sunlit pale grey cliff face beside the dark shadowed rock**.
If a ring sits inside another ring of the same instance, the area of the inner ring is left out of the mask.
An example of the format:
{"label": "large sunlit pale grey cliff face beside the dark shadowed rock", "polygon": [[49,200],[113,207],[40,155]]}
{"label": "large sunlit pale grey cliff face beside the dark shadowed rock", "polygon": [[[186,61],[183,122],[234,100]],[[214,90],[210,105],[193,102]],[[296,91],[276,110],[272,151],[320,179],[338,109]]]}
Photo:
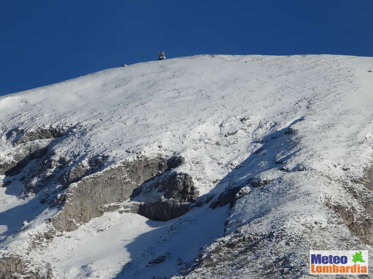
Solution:
{"label": "large sunlit pale grey cliff face beside the dark shadowed rock", "polygon": [[62,210],[50,222],[58,231],[76,230],[79,224],[101,216],[102,205],[126,201],[135,188],[166,166],[163,157],[143,157],[86,176],[70,186]]}

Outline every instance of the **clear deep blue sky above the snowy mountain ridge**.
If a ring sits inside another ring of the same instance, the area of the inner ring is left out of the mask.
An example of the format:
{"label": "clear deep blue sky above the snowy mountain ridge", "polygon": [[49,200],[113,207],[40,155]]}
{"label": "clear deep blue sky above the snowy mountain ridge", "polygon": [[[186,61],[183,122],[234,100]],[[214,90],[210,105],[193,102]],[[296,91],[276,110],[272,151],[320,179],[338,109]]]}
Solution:
{"label": "clear deep blue sky above the snowy mountain ridge", "polygon": [[0,95],[195,54],[373,56],[373,1],[0,0]]}

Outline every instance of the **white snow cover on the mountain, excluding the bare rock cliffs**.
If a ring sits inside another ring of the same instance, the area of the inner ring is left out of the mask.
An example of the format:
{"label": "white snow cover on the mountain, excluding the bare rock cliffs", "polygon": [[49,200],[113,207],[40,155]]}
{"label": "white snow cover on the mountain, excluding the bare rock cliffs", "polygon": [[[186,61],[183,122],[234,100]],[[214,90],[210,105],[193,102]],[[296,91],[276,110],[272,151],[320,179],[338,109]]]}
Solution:
{"label": "white snow cover on the mountain, excluding the bare rock cliffs", "polygon": [[[181,269],[188,278],[299,278],[308,276],[309,250],[372,255],[370,243],[361,244],[359,233],[330,206],[338,201],[372,217],[345,186],[371,166],[372,65],[373,58],[339,55],[198,55],[2,96],[3,158],[16,156],[10,131],[75,126],[73,136],[56,142],[56,154],[104,153],[106,167],[134,154],[180,154],[186,161],[179,169],[211,202],[228,187],[243,188],[232,208],[211,209],[209,202],[167,222],[105,213],[28,250],[32,235],[57,209],[37,195],[18,196],[23,186],[13,182],[0,188],[0,251],[35,265],[49,262],[56,278],[69,279],[168,278]],[[252,177],[267,184],[253,187]],[[254,233],[281,237],[216,256],[219,245]],[[159,257],[166,260],[149,264]],[[198,257],[215,265],[198,265]],[[278,259],[285,258],[284,267]]]}

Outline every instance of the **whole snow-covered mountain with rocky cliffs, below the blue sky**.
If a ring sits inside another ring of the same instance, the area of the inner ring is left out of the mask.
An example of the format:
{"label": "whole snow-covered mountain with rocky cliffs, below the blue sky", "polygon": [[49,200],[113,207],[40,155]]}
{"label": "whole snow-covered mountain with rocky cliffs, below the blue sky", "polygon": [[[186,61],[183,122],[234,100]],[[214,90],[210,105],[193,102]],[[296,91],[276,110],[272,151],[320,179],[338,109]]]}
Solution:
{"label": "whole snow-covered mountain with rocky cliffs, below the blue sky", "polygon": [[372,67],[199,55],[1,96],[0,278],[310,278],[309,250],[372,255]]}

